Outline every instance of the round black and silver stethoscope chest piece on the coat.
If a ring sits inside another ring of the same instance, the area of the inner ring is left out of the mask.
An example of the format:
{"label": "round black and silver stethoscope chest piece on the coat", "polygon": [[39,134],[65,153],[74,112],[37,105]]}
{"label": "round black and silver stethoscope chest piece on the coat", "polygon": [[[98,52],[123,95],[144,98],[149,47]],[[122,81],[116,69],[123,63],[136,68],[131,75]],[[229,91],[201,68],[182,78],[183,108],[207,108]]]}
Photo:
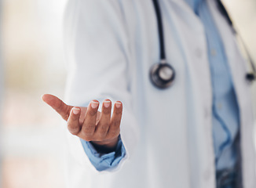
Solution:
{"label": "round black and silver stethoscope chest piece on the coat", "polygon": [[156,63],[151,67],[150,80],[159,89],[170,87],[174,82],[174,78],[174,68],[168,63]]}

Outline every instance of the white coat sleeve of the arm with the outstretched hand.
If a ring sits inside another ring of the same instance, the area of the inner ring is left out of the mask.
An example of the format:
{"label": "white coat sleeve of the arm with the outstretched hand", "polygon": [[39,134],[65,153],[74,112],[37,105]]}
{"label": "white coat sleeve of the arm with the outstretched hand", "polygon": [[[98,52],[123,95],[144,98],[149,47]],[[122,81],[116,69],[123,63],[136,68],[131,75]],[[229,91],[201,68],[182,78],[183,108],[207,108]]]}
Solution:
{"label": "white coat sleeve of the arm with the outstretched hand", "polygon": [[[139,134],[129,85],[130,52],[123,13],[117,0],[71,0],[64,17],[68,62],[65,102],[86,107],[90,100],[123,102],[121,136],[129,159]],[[72,159],[93,168],[78,137],[68,133]]]}

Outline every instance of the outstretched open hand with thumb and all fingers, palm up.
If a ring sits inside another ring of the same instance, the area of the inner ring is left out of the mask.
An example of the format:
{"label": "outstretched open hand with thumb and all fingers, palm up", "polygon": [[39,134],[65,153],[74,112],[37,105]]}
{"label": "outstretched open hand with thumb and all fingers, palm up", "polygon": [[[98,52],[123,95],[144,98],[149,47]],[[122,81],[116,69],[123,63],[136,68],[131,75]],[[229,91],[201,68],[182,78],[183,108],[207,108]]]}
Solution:
{"label": "outstretched open hand with thumb and all fingers, palm up", "polygon": [[68,131],[79,138],[91,141],[94,146],[104,152],[115,150],[120,133],[123,104],[115,102],[111,117],[112,101],[105,99],[101,112],[97,100],[88,107],[73,107],[65,104],[57,96],[45,94],[42,100],[57,111],[68,122]]}

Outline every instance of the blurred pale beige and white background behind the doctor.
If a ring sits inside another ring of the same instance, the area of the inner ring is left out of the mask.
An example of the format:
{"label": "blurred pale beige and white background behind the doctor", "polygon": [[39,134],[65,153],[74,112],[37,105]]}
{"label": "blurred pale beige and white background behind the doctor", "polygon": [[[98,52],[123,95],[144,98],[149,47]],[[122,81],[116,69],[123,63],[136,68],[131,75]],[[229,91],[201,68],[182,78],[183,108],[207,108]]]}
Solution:
{"label": "blurred pale beige and white background behind the doctor", "polygon": [[[256,1],[224,2],[256,61]],[[64,187],[63,127],[41,96],[64,96],[65,3],[0,0],[1,188]]]}

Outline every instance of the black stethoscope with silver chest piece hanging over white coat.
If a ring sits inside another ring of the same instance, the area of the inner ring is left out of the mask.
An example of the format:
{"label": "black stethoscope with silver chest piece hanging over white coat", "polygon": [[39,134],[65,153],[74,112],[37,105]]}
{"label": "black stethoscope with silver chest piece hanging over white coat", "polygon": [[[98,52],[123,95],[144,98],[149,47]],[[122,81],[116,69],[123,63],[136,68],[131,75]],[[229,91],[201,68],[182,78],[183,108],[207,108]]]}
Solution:
{"label": "black stethoscope with silver chest piece hanging over white coat", "polygon": [[[159,7],[158,0],[152,0],[154,7],[155,7],[155,15],[158,25],[158,32],[159,32],[159,45],[160,45],[160,63],[154,64],[150,69],[150,80],[152,81],[152,84],[155,85],[155,87],[159,89],[166,89],[169,88],[171,85],[174,84],[176,72],[174,70],[174,67],[170,65],[170,63],[167,63],[166,61],[166,53],[165,53],[165,45],[164,45],[164,35],[163,35],[163,22],[162,22],[162,16],[161,11]],[[222,4],[221,0],[217,0],[218,2],[218,9],[220,10],[221,14],[225,16],[226,20],[228,21],[230,27],[232,27],[232,30],[235,34],[237,34],[235,28],[233,27],[232,20],[229,17],[229,14],[227,13],[224,5]],[[245,52],[247,53],[248,60],[251,64],[252,72],[249,72],[246,74],[246,79],[250,83],[252,83],[255,80],[256,70],[254,67],[253,60],[251,59],[251,56],[249,52],[247,51],[246,46],[243,43],[243,48],[245,49]]]}

